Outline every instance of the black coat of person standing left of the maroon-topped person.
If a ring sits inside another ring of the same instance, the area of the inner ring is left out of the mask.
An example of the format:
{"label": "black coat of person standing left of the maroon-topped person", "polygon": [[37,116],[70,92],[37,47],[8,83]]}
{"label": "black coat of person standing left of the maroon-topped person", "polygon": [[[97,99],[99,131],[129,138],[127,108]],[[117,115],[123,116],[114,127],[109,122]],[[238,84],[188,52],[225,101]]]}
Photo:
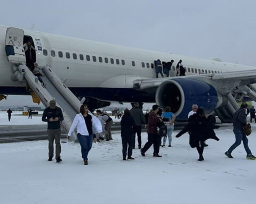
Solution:
{"label": "black coat of person standing left of the maroon-topped person", "polygon": [[131,115],[123,115],[121,119],[121,137],[133,138],[134,137],[135,122]]}

